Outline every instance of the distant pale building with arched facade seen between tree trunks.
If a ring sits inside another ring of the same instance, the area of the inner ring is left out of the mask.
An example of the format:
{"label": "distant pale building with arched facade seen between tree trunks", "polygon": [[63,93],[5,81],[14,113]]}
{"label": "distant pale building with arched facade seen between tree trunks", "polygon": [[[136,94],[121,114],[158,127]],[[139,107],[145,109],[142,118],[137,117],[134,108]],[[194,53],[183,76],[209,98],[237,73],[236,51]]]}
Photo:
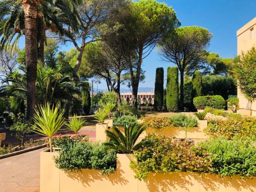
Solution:
{"label": "distant pale building with arched facade seen between tree trunks", "polygon": [[[133,103],[133,94],[130,93],[121,93],[121,98],[124,100],[127,104]],[[140,104],[154,104],[155,95],[154,92],[139,92],[138,93],[138,102]]]}

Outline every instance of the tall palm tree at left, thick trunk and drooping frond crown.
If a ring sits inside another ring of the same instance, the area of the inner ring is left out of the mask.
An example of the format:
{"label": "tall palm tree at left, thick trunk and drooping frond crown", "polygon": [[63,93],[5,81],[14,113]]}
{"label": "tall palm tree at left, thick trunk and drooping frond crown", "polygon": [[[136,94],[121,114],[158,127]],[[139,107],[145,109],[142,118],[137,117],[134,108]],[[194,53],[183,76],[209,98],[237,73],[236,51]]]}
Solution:
{"label": "tall palm tree at left, thick trunk and drooping frond crown", "polygon": [[[37,58],[44,63],[45,31],[51,28],[62,34],[62,17],[66,17],[72,24],[72,30],[77,29],[76,4],[79,0],[2,0],[0,2],[0,43],[14,46],[23,34],[25,34],[26,69],[27,69],[27,118],[33,117],[35,108]],[[56,15],[58,13],[58,15]],[[61,21],[60,21],[61,19]],[[13,40],[14,38],[14,40]],[[7,46],[8,47],[8,46]],[[40,54],[41,53],[41,54]]]}

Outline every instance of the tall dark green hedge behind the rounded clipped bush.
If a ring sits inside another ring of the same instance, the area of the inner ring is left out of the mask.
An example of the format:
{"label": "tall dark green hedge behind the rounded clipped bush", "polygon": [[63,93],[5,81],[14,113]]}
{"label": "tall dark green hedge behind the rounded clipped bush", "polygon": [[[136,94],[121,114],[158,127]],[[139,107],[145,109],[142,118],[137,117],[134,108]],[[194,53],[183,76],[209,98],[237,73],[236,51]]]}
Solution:
{"label": "tall dark green hedge behind the rounded clipped bush", "polygon": [[237,95],[237,81],[230,75],[206,75],[202,79],[203,95],[221,95],[225,100],[228,95]]}

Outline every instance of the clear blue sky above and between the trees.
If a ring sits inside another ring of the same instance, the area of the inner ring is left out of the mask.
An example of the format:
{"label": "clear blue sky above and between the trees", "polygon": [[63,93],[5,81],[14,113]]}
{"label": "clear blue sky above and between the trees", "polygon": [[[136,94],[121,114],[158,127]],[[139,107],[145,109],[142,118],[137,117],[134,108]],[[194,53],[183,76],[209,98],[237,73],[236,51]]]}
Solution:
{"label": "clear blue sky above and between the trees", "polygon": [[[159,2],[174,8],[181,26],[207,28],[213,34],[208,50],[224,58],[236,56],[236,32],[256,16],[255,0],[159,0]],[[24,40],[21,40],[20,47],[23,46]],[[69,50],[71,47],[72,45],[62,45],[61,49]],[[173,64],[162,61],[156,52],[152,52],[143,61],[142,68],[146,71],[146,79],[139,87],[154,88],[156,68],[164,67],[166,75],[169,66]],[[104,81],[99,84],[99,88],[106,88]]]}

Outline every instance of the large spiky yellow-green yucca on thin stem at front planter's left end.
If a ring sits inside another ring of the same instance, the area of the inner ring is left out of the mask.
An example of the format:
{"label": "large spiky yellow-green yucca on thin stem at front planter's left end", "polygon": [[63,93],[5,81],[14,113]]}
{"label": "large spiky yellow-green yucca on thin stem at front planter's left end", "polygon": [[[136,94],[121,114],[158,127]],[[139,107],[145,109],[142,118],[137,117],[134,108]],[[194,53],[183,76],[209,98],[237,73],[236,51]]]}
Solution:
{"label": "large spiky yellow-green yucca on thin stem at front planter's left end", "polygon": [[49,137],[50,152],[52,152],[52,137],[65,124],[63,112],[59,113],[59,106],[50,106],[49,103],[39,106],[35,112],[33,132]]}

